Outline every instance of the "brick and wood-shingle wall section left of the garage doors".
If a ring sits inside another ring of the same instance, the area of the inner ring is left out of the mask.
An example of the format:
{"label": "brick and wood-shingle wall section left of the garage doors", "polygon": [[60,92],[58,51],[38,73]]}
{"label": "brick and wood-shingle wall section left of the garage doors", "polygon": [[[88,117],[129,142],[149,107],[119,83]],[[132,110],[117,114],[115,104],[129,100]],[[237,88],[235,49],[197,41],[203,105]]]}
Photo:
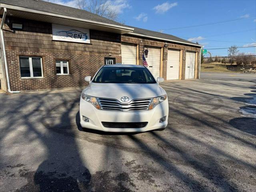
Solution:
{"label": "brick and wood-shingle wall section left of the garage doors", "polygon": [[[94,76],[104,57],[116,58],[121,63],[121,36],[109,32],[90,30],[91,44],[52,40],[52,25],[19,18],[9,18],[5,25],[4,43],[9,72],[10,88],[37,90],[85,86],[85,76]],[[12,30],[11,23],[23,24],[22,30]],[[44,78],[22,79],[19,56],[42,57]],[[55,59],[69,60],[70,75],[56,75]]]}

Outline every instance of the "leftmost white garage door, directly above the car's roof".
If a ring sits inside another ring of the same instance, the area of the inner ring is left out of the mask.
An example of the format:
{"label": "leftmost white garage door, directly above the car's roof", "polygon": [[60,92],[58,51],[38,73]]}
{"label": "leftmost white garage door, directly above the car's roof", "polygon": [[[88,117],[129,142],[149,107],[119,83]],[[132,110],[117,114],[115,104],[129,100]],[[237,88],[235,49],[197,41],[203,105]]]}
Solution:
{"label": "leftmost white garage door, directly above the car's roof", "polygon": [[122,42],[121,56],[122,56],[122,64],[136,65],[136,44]]}

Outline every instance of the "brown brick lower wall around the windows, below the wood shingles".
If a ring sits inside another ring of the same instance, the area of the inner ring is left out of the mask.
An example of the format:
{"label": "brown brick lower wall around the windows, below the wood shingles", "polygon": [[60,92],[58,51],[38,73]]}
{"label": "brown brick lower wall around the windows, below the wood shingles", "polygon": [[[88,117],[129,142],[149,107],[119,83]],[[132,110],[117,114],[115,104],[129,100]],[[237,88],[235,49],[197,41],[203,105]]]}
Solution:
{"label": "brown brick lower wall around the windows, below the wood shingles", "polygon": [[[18,56],[40,56],[43,60],[44,78],[21,79]],[[86,86],[85,76],[94,76],[100,66],[104,65],[104,57],[87,54],[66,54],[49,52],[6,51],[11,90],[37,90],[49,88]],[[56,75],[55,59],[68,59],[70,75]],[[116,62],[121,57],[116,56]]]}

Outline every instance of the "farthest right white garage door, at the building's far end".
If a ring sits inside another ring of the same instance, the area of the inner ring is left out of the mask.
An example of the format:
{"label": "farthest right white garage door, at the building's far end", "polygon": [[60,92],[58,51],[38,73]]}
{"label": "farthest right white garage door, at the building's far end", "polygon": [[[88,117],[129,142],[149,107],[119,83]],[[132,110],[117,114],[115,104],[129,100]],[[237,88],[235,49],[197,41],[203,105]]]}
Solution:
{"label": "farthest right white garage door, at the building's far end", "polygon": [[195,74],[196,53],[192,51],[186,52],[186,71],[185,79],[193,79]]}

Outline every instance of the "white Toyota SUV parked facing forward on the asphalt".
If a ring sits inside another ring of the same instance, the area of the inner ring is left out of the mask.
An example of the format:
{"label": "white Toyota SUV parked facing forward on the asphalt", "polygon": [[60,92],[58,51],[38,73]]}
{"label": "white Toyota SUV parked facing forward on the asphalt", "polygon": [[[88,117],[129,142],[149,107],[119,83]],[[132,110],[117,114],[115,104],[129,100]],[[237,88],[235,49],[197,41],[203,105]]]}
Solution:
{"label": "white Toyota SUV parked facing forward on the asphalt", "polygon": [[80,98],[83,128],[107,132],[164,130],[168,124],[167,94],[150,71],[140,65],[104,65]]}

